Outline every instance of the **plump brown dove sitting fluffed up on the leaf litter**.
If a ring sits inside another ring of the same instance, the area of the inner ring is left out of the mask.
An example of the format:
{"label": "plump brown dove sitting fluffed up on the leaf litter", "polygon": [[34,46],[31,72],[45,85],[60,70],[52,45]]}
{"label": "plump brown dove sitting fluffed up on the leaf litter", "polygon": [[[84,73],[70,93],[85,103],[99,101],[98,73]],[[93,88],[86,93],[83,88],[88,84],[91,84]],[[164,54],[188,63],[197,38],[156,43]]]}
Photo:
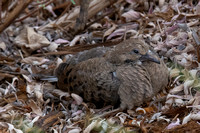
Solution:
{"label": "plump brown dove sitting fluffed up on the leaf litter", "polygon": [[55,70],[57,86],[85,101],[132,109],[168,84],[164,61],[142,39],[97,47],[74,55]]}

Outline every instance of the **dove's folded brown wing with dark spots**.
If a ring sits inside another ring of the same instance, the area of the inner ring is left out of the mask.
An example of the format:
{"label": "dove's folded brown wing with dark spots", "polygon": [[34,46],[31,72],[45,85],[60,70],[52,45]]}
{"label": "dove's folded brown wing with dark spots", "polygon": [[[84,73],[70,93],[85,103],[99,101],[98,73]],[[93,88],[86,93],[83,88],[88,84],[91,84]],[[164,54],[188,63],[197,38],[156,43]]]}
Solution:
{"label": "dove's folded brown wing with dark spots", "polygon": [[69,65],[58,79],[59,88],[69,88],[88,101],[115,103],[119,99],[117,91],[120,81],[116,77],[116,67],[104,58],[92,58]]}

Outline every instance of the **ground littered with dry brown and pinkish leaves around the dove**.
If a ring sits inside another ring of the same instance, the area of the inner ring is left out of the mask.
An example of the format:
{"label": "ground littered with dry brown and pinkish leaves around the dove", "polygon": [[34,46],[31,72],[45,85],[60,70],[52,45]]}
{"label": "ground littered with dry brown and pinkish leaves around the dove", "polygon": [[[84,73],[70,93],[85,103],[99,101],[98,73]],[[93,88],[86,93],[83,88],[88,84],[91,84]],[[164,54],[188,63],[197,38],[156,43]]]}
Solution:
{"label": "ground littered with dry brown and pinkish leaves around the dove", "polygon": [[[200,132],[197,0],[0,3],[1,132]],[[170,83],[152,101],[114,112],[58,90],[52,76],[61,62],[130,37],[143,38],[168,65]]]}

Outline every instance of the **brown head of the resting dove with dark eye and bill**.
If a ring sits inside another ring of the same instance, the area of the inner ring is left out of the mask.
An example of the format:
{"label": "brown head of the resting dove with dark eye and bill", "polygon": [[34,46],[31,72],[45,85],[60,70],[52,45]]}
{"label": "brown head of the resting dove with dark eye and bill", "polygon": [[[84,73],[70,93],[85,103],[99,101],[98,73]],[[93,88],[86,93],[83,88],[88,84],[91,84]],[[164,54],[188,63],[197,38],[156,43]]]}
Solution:
{"label": "brown head of the resting dove with dark eye and bill", "polygon": [[129,39],[116,45],[107,55],[108,60],[115,64],[142,63],[151,61],[160,63],[149,46],[139,39]]}

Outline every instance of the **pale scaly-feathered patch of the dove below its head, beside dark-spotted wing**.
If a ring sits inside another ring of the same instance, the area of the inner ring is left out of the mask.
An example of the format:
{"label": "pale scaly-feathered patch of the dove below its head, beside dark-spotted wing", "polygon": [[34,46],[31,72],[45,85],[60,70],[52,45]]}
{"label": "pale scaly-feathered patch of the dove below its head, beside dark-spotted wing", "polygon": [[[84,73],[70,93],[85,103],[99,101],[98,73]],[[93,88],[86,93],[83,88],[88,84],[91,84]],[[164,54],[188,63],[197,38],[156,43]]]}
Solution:
{"label": "pale scaly-feathered patch of the dove below its head, beside dark-spotted wing", "polygon": [[151,79],[143,66],[122,65],[117,69],[117,77],[121,81],[118,94],[123,109],[139,106],[153,96]]}

